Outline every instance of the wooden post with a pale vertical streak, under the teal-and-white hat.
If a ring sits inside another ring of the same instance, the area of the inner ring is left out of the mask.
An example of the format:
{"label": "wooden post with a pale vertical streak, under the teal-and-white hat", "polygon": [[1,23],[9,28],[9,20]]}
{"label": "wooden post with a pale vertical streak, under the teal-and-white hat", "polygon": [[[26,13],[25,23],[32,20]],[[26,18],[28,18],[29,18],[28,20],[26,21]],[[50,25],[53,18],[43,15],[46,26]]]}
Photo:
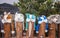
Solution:
{"label": "wooden post with a pale vertical streak, under the teal-and-white hat", "polygon": [[26,38],[34,38],[34,22],[28,23],[28,30],[26,33]]}

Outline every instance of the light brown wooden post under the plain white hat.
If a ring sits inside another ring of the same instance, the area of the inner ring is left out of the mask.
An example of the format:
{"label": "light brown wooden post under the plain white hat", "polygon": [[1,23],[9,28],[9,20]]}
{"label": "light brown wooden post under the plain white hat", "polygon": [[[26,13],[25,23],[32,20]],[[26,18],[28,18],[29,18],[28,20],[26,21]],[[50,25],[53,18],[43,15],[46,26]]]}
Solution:
{"label": "light brown wooden post under the plain white hat", "polygon": [[22,30],[23,30],[22,22],[16,22],[16,38],[23,38]]}

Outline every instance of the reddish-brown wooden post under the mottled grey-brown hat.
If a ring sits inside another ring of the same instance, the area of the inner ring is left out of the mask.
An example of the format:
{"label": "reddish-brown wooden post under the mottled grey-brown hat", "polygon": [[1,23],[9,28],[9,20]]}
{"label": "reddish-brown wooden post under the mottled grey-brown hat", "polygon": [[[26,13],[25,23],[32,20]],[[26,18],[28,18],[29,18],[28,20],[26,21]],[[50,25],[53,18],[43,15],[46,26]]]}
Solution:
{"label": "reddish-brown wooden post under the mottled grey-brown hat", "polygon": [[49,25],[49,34],[48,34],[49,38],[56,38],[56,24],[55,23],[51,23]]}

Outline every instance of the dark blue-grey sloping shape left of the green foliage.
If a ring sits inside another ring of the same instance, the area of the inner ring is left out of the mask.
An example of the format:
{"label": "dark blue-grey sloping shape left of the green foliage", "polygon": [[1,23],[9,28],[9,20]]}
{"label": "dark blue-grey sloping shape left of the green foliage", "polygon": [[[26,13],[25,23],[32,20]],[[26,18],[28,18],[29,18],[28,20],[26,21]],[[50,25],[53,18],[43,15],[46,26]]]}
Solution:
{"label": "dark blue-grey sloping shape left of the green foliage", "polygon": [[0,4],[0,14],[2,14],[4,11],[11,12],[14,14],[17,11],[19,11],[19,9],[17,6],[11,4],[7,4],[7,3]]}

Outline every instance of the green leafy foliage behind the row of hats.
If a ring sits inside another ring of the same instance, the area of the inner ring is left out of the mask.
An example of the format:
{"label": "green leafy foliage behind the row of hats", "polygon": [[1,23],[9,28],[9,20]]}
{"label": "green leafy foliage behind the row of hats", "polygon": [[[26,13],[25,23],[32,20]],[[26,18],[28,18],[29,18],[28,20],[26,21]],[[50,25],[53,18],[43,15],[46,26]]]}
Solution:
{"label": "green leafy foliage behind the row of hats", "polygon": [[[32,13],[36,16],[57,14],[57,6],[52,4],[52,0],[19,0],[15,6],[19,7],[21,13]],[[56,4],[55,4],[56,5]]]}

